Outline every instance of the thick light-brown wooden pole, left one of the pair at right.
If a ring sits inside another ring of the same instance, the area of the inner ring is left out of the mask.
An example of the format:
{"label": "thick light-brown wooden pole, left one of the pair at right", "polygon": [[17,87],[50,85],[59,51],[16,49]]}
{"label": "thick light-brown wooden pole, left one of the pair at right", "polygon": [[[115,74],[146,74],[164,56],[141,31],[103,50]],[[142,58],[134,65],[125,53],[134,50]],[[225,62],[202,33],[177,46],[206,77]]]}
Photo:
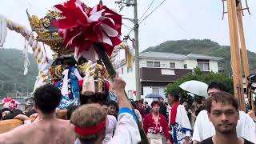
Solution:
{"label": "thick light-brown wooden pole, left one of the pair at right", "polygon": [[246,106],[242,85],[242,65],[238,41],[238,18],[236,0],[227,0],[227,11],[230,30],[230,52],[234,79],[234,96],[238,99],[240,110],[245,111]]}

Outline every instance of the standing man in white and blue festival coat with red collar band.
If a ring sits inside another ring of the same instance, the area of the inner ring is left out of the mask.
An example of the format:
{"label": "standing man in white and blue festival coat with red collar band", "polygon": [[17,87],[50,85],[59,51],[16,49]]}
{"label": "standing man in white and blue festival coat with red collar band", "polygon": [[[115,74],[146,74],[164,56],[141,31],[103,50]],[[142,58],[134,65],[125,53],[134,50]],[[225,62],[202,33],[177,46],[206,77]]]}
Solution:
{"label": "standing man in white and blue festival coat with red collar band", "polygon": [[169,126],[174,144],[189,144],[192,129],[185,107],[179,104],[178,95],[172,92],[168,94],[168,103],[171,106]]}

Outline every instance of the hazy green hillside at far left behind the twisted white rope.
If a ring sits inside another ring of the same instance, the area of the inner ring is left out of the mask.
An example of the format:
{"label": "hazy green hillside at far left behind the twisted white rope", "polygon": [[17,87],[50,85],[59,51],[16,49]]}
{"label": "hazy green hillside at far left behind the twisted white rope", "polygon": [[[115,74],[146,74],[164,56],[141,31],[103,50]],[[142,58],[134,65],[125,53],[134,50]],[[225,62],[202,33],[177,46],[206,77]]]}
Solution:
{"label": "hazy green hillside at far left behind the twisted white rope", "polygon": [[[0,95],[14,93],[18,90],[25,94],[34,88],[34,81],[38,75],[38,65],[34,55],[29,54],[30,66],[28,73],[24,72],[24,56],[22,50],[0,48]],[[16,85],[16,86],[15,86]]]}

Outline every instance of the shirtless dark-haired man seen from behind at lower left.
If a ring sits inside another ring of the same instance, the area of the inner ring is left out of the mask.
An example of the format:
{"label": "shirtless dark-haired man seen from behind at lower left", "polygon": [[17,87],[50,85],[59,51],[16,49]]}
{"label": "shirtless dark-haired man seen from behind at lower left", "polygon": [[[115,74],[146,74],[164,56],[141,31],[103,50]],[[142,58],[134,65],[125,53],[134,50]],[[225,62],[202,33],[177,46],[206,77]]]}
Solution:
{"label": "shirtless dark-haired man seen from behind at lower left", "polygon": [[45,85],[35,90],[34,108],[39,114],[38,121],[0,134],[0,143],[74,143],[74,128],[70,126],[70,122],[55,117],[55,109],[61,97],[60,90],[52,85]]}

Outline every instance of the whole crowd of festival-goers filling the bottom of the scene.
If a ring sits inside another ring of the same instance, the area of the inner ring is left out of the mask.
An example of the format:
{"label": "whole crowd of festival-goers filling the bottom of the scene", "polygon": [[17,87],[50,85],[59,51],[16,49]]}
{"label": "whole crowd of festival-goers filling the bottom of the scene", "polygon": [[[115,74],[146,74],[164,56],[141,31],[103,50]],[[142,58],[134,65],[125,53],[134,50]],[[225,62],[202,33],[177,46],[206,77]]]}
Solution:
{"label": "whole crowd of festival-goers filling the bottom of the scene", "polygon": [[1,110],[2,120],[17,118],[24,125],[0,134],[0,143],[136,144],[142,141],[139,123],[150,144],[256,143],[256,123],[238,110],[238,102],[222,83],[211,83],[208,98],[196,98],[192,106],[179,102],[172,92],[166,102],[129,101],[125,86],[117,75],[113,89],[118,102],[70,106],[67,120],[56,114],[61,91],[42,86],[34,93],[33,110]]}

